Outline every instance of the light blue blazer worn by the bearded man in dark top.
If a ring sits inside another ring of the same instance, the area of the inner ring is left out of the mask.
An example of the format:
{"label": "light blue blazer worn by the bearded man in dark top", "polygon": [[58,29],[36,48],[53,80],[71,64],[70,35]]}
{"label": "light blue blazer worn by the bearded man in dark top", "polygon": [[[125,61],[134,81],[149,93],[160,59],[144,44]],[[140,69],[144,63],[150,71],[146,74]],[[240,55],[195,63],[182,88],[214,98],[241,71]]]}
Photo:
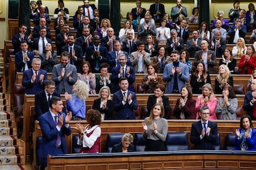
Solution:
{"label": "light blue blazer worn by the bearded man in dark top", "polygon": [[[189,67],[186,64],[181,62],[179,62],[179,67],[182,67],[182,69],[181,69],[181,75],[177,75],[177,86],[178,86],[179,92],[181,92],[181,87],[184,86],[187,81],[189,81]],[[172,68],[173,68],[173,63],[169,63],[164,67],[163,81],[167,81],[165,93],[173,92],[174,75],[171,76]]]}

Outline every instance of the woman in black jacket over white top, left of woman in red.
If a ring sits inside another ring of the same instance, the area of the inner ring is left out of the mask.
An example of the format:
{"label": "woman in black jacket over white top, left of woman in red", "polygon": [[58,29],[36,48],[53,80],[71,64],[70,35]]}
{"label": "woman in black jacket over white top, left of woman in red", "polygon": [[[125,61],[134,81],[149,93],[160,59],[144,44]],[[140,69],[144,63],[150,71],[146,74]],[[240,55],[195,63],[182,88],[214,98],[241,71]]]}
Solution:
{"label": "woman in black jacket over white top, left of woman in red", "polygon": [[229,68],[231,74],[234,74],[234,68],[236,67],[236,59],[233,58],[230,49],[224,50],[224,55],[222,55],[222,59],[220,59],[220,65],[223,64]]}

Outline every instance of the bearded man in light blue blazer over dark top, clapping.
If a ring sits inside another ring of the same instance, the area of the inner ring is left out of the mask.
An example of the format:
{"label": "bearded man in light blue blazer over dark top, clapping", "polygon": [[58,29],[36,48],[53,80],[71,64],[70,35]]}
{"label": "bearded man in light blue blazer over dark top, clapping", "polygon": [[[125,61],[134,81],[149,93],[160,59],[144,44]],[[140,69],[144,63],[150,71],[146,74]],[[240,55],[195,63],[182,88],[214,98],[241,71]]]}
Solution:
{"label": "bearded man in light blue blazer over dark top, clapping", "polygon": [[179,62],[179,51],[171,52],[172,63],[165,65],[163,81],[167,81],[165,93],[180,93],[182,86],[189,81],[189,67]]}

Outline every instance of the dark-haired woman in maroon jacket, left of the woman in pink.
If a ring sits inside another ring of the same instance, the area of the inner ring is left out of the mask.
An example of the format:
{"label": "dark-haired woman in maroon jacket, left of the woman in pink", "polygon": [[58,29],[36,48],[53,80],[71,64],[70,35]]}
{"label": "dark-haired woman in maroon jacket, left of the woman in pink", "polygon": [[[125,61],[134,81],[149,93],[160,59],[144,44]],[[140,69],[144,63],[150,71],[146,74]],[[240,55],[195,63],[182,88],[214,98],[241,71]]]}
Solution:
{"label": "dark-haired woman in maroon jacket, left of the woman in pink", "polygon": [[181,98],[177,99],[173,113],[177,119],[195,119],[195,99],[191,88],[187,85],[181,87]]}

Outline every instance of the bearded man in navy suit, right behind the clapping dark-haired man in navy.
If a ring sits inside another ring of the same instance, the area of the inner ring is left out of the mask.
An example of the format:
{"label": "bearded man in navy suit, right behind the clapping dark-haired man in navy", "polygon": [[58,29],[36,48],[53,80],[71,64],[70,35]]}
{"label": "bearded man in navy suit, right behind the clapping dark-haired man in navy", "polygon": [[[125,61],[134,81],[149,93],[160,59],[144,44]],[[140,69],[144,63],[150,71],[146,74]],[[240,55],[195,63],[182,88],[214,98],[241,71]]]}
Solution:
{"label": "bearded man in navy suit, right behind the clapping dark-haired man in navy", "polygon": [[127,78],[129,81],[129,91],[135,92],[134,81],[135,81],[135,72],[134,68],[127,66],[127,56],[125,54],[120,54],[118,56],[119,66],[114,67],[111,75],[111,82],[114,83],[114,92],[120,90],[119,79]]}

